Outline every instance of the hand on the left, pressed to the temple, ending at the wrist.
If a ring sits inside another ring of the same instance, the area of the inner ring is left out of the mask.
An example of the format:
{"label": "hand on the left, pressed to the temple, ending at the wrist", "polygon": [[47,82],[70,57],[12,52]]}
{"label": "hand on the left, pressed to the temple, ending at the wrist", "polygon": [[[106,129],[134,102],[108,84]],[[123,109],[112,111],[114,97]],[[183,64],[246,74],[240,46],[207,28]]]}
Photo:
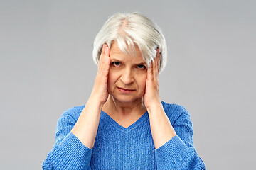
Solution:
{"label": "hand on the left, pressed to the temple, ending at the wrist", "polygon": [[110,48],[107,45],[103,45],[102,53],[100,55],[100,61],[98,63],[98,72],[95,78],[95,84],[92,89],[90,98],[94,98],[97,102],[100,102],[100,106],[107,101],[107,79],[110,69]]}

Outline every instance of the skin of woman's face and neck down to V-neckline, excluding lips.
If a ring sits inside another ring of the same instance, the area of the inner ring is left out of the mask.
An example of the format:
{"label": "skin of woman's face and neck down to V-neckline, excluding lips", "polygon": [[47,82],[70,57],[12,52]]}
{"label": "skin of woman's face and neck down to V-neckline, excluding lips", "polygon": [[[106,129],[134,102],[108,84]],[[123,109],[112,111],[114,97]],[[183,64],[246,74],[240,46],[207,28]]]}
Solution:
{"label": "skin of woman's face and neck down to V-neckline, excluding lips", "polygon": [[[146,62],[142,59],[139,48],[135,55],[127,55],[117,45],[112,44],[110,50],[110,68],[107,80],[107,91],[110,94],[102,111],[110,115],[124,128],[132,125],[146,112],[142,96],[146,89]],[[132,89],[124,94],[122,89]]]}

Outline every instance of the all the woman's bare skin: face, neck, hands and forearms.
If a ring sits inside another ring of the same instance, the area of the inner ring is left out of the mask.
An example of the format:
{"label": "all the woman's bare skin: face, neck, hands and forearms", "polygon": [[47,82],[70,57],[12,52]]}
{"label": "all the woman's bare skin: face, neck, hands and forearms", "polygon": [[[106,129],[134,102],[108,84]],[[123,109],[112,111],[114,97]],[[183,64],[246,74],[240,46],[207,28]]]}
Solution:
{"label": "all the woman's bare skin: face, neck, hands and forearms", "polygon": [[[101,110],[124,128],[148,111],[156,149],[176,135],[159,95],[159,49],[146,69],[140,69],[143,64],[138,63],[144,61],[138,48],[136,51],[136,56],[126,55],[116,42],[111,50],[107,45],[103,46],[92,93],[71,130],[85,146],[92,148],[94,145]],[[118,87],[134,91],[123,94]]]}

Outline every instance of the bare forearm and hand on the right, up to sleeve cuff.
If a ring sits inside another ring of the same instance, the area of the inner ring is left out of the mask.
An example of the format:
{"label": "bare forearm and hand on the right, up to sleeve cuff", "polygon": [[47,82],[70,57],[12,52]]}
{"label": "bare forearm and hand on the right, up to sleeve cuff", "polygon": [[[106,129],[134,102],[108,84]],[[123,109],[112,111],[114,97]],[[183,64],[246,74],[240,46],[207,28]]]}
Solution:
{"label": "bare forearm and hand on the right, up to sleeve cuff", "polygon": [[154,61],[149,64],[146,77],[146,91],[143,96],[144,105],[149,113],[151,133],[156,148],[161,147],[176,135],[169,118],[164,112],[159,95],[160,53],[156,50]]}

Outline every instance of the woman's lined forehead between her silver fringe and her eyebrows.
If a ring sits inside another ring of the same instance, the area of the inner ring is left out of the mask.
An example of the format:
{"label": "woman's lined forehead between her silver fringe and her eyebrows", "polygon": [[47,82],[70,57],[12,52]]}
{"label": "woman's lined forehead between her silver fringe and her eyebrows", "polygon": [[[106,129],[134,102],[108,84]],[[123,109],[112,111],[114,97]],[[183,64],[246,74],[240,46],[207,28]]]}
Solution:
{"label": "woman's lined forehead between her silver fringe and her eyebrows", "polygon": [[145,62],[142,58],[142,53],[139,51],[139,47],[135,45],[135,51],[130,49],[128,53],[119,49],[117,42],[113,42],[110,48],[110,60],[127,60],[133,62]]}

